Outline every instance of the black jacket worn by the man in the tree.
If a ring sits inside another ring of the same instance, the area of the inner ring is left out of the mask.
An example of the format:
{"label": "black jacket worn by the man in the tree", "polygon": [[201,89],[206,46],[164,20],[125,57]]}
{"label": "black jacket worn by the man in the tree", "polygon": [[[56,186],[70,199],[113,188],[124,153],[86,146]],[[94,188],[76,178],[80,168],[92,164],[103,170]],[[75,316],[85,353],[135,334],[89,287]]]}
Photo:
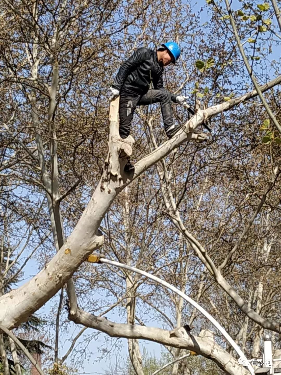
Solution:
{"label": "black jacket worn by the man in the tree", "polygon": [[139,48],[121,66],[112,87],[120,95],[144,95],[152,83],[154,89],[163,88],[163,67],[157,59],[157,52]]}

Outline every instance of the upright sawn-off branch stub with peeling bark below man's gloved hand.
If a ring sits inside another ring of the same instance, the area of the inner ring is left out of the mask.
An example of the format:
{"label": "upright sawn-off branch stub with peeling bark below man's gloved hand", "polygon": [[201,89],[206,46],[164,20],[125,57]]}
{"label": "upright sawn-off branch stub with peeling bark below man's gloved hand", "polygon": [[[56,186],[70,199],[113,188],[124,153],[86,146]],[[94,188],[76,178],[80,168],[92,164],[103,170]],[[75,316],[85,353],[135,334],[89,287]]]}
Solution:
{"label": "upright sawn-off branch stub with peeling bark below man's gloved hand", "polygon": [[[109,141],[108,156],[105,160],[101,189],[105,190],[110,181],[114,181],[115,188],[121,187],[127,180],[124,166],[132,155],[135,139],[132,136],[122,139],[119,135],[119,96],[110,103],[109,108]],[[109,188],[109,187],[108,187]],[[111,189],[111,188],[110,188]]]}

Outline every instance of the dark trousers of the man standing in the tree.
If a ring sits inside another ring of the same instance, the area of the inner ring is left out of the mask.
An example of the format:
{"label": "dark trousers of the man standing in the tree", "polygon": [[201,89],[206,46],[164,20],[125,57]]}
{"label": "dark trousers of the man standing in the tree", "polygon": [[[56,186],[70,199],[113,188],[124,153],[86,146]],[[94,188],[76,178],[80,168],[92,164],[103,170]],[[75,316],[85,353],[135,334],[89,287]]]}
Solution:
{"label": "dark trousers of the man standing in the tree", "polygon": [[174,95],[164,89],[148,90],[148,92],[143,96],[134,96],[132,94],[121,92],[119,101],[120,137],[127,138],[127,136],[130,134],[130,127],[137,105],[160,103],[164,127],[165,130],[167,130],[170,126],[173,125],[172,101],[175,101]]}

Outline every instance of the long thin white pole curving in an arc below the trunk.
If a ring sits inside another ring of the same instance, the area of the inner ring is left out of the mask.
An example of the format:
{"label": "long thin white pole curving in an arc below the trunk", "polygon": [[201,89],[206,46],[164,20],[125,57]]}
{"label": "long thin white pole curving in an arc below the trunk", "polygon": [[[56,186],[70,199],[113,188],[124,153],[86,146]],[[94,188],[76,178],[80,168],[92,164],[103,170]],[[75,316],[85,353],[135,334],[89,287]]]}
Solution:
{"label": "long thin white pole curving in an arc below the trunk", "polygon": [[[105,259],[105,258],[100,258],[99,261],[101,263],[105,263],[105,264],[111,264],[112,266],[116,266],[116,267],[120,267],[120,268],[124,268],[126,270],[129,270],[129,271],[133,271],[133,272],[136,272],[136,273],[139,273],[140,275],[143,275],[151,280],[154,280],[156,282],[158,282],[159,284],[162,284],[164,285],[164,287],[172,290],[173,292],[175,292],[176,294],[178,294],[179,296],[181,296],[183,299],[185,299],[187,302],[189,302],[192,306],[194,306],[198,311],[200,311],[211,323],[214,324],[214,326],[220,331],[220,333],[226,338],[226,340],[229,342],[229,344],[233,347],[233,349],[236,351],[236,353],[238,354],[238,356],[243,359],[243,362],[245,363],[245,367],[248,368],[248,370],[250,371],[251,375],[254,375],[254,369],[252,367],[252,365],[250,364],[250,362],[247,360],[247,358],[244,356],[244,353],[242,352],[242,350],[239,348],[239,346],[236,344],[236,342],[229,336],[229,334],[226,332],[226,330],[220,325],[220,323],[218,323],[213,317],[212,315],[210,315],[205,309],[203,309],[200,305],[198,305],[197,302],[193,301],[193,299],[191,299],[190,297],[188,297],[186,294],[182,293],[180,290],[178,290],[177,288],[173,287],[173,285],[167,283],[166,281],[164,280],[161,280],[159,279],[157,276],[155,275],[151,275],[150,273],[148,272],[145,272],[145,271],[142,271],[142,270],[139,270],[138,268],[135,268],[135,267],[131,267],[131,266],[127,266],[127,264],[123,264],[123,263],[119,263],[119,262],[115,262],[113,260],[108,260],[108,259]],[[242,363],[242,360],[241,360],[241,363]]]}

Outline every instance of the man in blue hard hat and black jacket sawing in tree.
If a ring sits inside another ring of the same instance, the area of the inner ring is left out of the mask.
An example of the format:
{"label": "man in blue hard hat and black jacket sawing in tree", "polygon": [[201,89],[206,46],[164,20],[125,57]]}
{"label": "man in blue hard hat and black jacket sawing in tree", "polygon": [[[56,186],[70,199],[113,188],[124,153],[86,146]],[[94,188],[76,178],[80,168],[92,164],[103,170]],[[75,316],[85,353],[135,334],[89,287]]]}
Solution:
{"label": "man in blue hard hat and black jacket sawing in tree", "polygon": [[[172,102],[189,107],[184,96],[175,96],[163,88],[163,67],[175,64],[181,53],[175,42],[162,44],[163,48],[152,51],[149,48],[138,49],[124,62],[114,80],[111,90],[113,100],[120,95],[119,134],[126,138],[130,133],[133,113],[137,105],[149,105],[160,102],[166,134],[171,138],[180,125],[174,123]],[[153,85],[153,89],[151,86]]]}

